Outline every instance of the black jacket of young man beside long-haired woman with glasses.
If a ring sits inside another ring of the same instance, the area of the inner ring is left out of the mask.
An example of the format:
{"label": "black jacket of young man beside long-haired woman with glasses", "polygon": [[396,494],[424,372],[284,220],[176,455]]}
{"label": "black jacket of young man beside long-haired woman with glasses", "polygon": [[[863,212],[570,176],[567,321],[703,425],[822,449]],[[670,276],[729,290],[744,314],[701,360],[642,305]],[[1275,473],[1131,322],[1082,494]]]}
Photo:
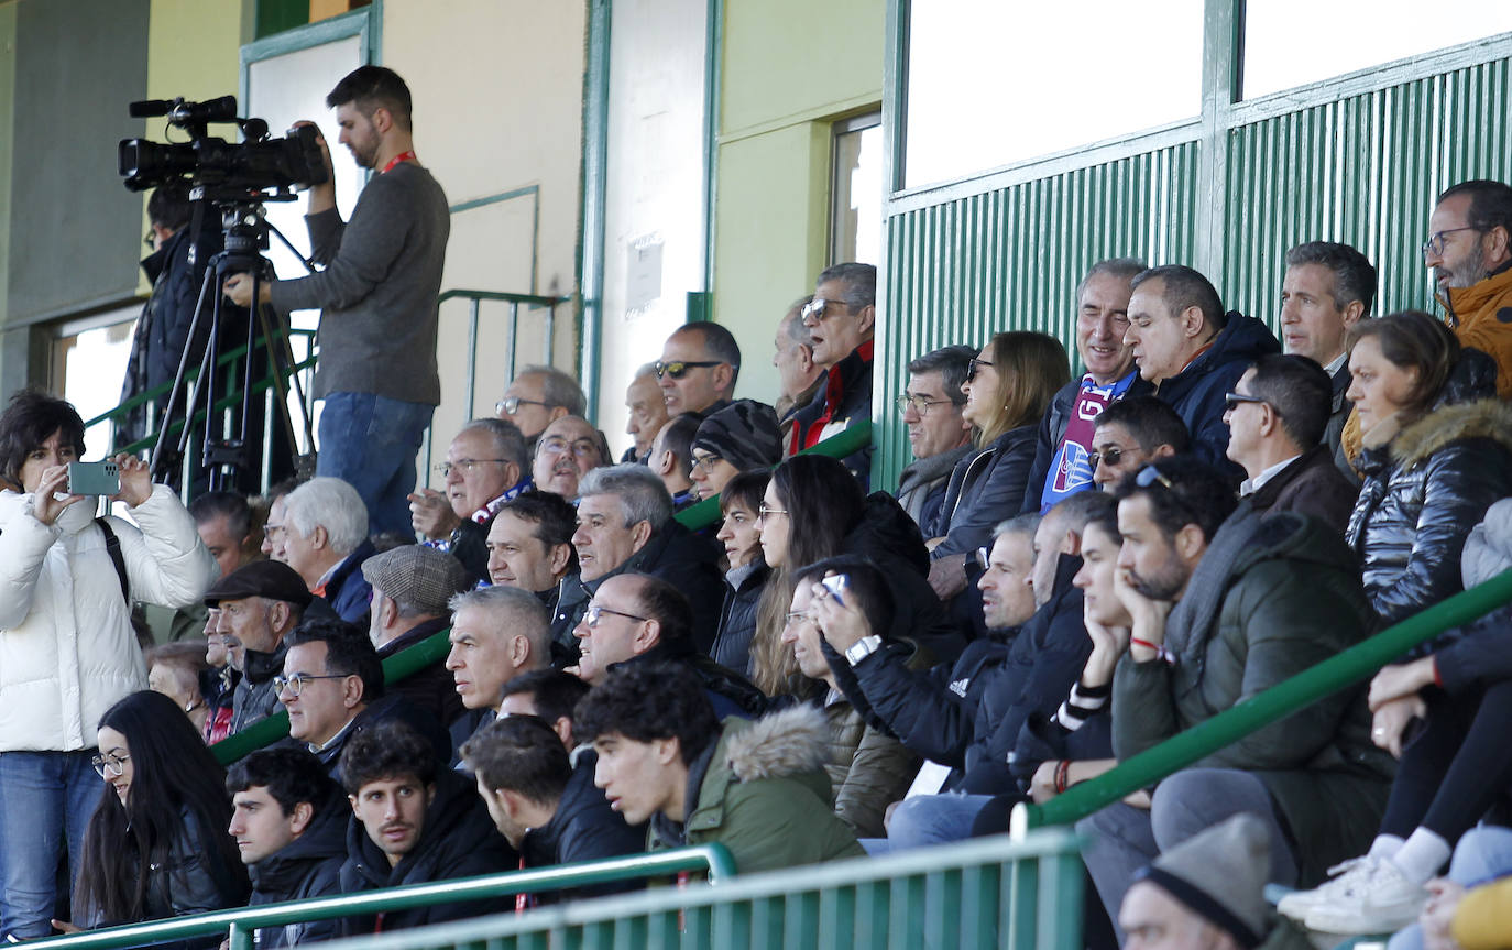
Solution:
{"label": "black jacket of young man beside long-haired woman with glasses", "polygon": [[[333,793],[319,806],[302,835],[281,850],[248,867],[253,876],[253,897],[248,906],[307,900],[342,893],[342,864],[346,861],[346,821],[352,809],[346,799]],[[340,933],[337,920],[307,920],[281,927],[260,927],[254,936],[257,950],[293,947],[331,939]]]}

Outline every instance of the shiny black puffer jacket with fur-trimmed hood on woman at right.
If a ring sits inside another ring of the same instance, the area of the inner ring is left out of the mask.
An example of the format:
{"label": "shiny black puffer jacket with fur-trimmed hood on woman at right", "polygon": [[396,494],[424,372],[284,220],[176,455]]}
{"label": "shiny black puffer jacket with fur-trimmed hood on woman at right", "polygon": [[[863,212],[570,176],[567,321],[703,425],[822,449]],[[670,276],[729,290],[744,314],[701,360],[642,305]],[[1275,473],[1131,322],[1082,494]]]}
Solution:
{"label": "shiny black puffer jacket with fur-trimmed hood on woman at right", "polygon": [[[1462,590],[1465,537],[1512,495],[1512,407],[1495,399],[1445,405],[1391,437],[1371,430],[1365,477],[1346,540],[1364,566],[1382,623],[1397,623]],[[1388,440],[1390,439],[1390,440]]]}

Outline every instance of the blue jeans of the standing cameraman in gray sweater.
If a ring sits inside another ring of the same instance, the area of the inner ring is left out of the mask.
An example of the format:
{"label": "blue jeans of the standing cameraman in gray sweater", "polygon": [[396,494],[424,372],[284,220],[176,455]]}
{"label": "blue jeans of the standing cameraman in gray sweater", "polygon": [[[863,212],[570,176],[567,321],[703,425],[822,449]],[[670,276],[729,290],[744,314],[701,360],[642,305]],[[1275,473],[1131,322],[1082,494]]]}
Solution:
{"label": "blue jeans of the standing cameraman in gray sweater", "polygon": [[367,504],[369,534],[414,536],[408,495],[414,492],[414,460],[434,410],[370,392],[325,396],[314,473],[357,489]]}

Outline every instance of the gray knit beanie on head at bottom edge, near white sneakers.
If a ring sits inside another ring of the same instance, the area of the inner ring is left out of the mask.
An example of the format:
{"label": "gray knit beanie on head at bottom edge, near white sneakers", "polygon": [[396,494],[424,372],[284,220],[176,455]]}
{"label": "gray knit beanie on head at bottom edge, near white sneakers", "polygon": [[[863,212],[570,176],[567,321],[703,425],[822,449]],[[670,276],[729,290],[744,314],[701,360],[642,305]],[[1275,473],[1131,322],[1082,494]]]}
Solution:
{"label": "gray knit beanie on head at bottom edge, near white sneakers", "polygon": [[1269,874],[1266,823],[1238,814],[1155,858],[1134,880],[1160,886],[1252,950],[1270,932],[1272,914],[1264,896]]}

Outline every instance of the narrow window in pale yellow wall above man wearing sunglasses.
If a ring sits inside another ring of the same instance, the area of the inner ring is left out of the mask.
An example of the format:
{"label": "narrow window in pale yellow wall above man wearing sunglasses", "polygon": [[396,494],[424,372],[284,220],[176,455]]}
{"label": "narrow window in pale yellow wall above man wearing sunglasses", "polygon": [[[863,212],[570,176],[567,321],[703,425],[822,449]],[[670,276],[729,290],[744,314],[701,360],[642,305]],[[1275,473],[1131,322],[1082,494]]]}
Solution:
{"label": "narrow window in pale yellow wall above man wearing sunglasses", "polygon": [[835,123],[830,263],[881,257],[881,112]]}

